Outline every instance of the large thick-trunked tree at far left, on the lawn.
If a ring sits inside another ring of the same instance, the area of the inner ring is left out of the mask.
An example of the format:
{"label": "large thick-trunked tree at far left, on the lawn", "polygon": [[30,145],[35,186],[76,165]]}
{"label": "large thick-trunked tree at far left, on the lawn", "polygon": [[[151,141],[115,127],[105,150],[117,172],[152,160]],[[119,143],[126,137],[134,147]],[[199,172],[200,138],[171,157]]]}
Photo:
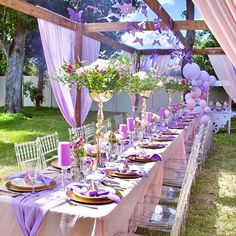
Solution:
{"label": "large thick-trunked tree at far left, on the lawn", "polygon": [[0,18],[0,47],[7,60],[4,110],[22,112],[24,46],[32,18],[5,7],[0,7]]}

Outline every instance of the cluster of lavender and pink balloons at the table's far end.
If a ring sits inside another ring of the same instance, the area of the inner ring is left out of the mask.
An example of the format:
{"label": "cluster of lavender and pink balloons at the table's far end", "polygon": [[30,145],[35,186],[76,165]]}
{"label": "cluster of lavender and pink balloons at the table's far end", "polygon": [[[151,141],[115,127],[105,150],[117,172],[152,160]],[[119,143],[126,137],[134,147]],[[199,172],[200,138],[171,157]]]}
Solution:
{"label": "cluster of lavender and pink balloons at the table's far end", "polygon": [[184,77],[191,82],[192,90],[185,95],[187,108],[201,115],[201,123],[207,124],[210,120],[211,108],[206,102],[207,93],[211,86],[216,83],[216,78],[201,70],[196,63],[187,63],[183,68]]}

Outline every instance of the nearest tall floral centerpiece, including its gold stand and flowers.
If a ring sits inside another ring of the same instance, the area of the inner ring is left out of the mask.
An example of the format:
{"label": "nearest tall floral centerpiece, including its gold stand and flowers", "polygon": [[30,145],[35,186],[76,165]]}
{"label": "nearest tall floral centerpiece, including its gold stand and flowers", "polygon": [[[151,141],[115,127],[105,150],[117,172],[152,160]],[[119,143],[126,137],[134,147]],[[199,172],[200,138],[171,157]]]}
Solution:
{"label": "nearest tall floral centerpiece, including its gold stand and flowers", "polygon": [[101,142],[103,133],[103,103],[112,98],[113,91],[122,90],[126,72],[124,59],[98,59],[89,66],[81,64],[64,64],[59,80],[71,87],[87,87],[93,101],[98,103],[96,141],[97,141],[97,165],[101,165]]}

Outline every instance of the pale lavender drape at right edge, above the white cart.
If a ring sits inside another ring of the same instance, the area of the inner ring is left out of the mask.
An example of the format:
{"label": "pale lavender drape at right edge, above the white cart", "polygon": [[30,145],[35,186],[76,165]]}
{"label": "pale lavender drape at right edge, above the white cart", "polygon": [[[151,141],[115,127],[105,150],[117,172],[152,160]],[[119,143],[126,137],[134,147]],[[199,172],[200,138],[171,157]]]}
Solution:
{"label": "pale lavender drape at right edge, above the white cart", "polygon": [[228,95],[236,102],[236,69],[226,55],[208,55],[218,79]]}

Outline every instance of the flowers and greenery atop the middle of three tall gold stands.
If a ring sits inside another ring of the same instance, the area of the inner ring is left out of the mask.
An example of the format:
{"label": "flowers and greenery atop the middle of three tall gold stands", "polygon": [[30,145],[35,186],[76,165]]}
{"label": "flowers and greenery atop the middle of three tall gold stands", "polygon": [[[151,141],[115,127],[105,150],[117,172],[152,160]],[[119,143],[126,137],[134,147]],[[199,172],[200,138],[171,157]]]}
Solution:
{"label": "flowers and greenery atop the middle of three tall gold stands", "polygon": [[147,90],[157,90],[157,82],[150,73],[146,73],[145,71],[131,73],[126,77],[124,91],[130,95],[136,95]]}

